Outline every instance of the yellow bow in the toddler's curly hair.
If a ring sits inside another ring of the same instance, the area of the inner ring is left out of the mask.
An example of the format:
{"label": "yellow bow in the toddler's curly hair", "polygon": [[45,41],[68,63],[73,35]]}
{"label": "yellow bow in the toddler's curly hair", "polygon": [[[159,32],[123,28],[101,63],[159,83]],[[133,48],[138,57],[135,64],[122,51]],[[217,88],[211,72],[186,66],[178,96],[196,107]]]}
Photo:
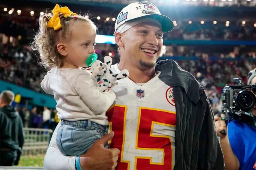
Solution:
{"label": "yellow bow in the toddler's curly hair", "polygon": [[60,6],[58,4],[56,4],[54,9],[52,10],[52,14],[53,14],[53,16],[48,21],[47,26],[53,28],[55,31],[62,27],[62,25],[60,24],[60,17],[59,17],[60,14],[64,14],[65,18],[68,16],[71,16],[71,15],[73,15],[73,16],[77,15],[76,13],[70,11],[67,6],[60,8]]}

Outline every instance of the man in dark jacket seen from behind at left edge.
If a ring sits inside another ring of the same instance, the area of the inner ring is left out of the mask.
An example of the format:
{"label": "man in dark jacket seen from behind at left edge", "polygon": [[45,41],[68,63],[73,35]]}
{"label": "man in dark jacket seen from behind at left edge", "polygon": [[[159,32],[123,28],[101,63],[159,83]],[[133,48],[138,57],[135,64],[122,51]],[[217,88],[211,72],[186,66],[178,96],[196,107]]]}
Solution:
{"label": "man in dark jacket seen from behind at left edge", "polygon": [[24,144],[22,120],[11,105],[14,93],[6,90],[0,94],[0,166],[18,164]]}

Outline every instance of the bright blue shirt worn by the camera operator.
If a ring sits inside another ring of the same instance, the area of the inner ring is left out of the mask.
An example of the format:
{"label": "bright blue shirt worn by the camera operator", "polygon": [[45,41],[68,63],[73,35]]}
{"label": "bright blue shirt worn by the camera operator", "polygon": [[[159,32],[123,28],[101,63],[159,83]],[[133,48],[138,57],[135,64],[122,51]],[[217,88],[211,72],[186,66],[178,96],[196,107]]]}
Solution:
{"label": "bright blue shirt worn by the camera operator", "polygon": [[228,123],[228,139],[231,148],[239,160],[239,170],[255,170],[256,127],[234,119]]}

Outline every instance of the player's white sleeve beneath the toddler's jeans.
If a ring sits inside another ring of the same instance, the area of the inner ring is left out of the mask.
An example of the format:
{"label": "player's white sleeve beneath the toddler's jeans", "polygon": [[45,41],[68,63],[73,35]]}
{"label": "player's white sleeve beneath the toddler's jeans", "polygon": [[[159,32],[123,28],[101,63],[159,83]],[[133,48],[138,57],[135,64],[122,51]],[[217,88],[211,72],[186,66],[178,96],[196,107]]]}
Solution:
{"label": "player's white sleeve beneath the toddler's jeans", "polygon": [[76,156],[64,156],[58,149],[56,143],[58,127],[60,127],[60,122],[52,134],[52,139],[44,157],[44,170],[75,170]]}

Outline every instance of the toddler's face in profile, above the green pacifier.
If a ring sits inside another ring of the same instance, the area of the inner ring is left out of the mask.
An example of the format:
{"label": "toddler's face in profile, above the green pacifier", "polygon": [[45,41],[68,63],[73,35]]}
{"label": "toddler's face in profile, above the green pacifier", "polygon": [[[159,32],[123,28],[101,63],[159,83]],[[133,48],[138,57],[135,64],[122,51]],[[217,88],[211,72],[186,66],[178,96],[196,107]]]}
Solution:
{"label": "toddler's face in profile, above the green pacifier", "polygon": [[70,29],[72,34],[66,43],[68,55],[64,61],[75,67],[86,67],[86,59],[95,51],[96,30],[85,21],[75,22]]}

